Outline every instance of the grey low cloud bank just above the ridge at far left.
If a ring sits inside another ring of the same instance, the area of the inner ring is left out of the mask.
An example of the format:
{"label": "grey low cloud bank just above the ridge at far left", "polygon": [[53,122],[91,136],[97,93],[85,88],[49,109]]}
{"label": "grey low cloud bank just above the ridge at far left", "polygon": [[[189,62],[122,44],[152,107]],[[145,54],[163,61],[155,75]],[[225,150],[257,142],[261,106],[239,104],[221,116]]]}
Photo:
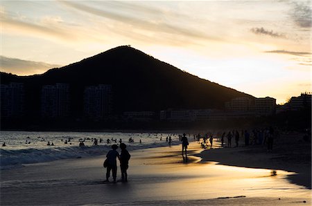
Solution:
{"label": "grey low cloud bank just above the ridge at far left", "polygon": [[47,64],[45,62],[33,62],[0,55],[0,69],[6,73],[14,73],[16,75],[33,75],[44,73],[50,68],[58,67],[60,67],[60,65]]}

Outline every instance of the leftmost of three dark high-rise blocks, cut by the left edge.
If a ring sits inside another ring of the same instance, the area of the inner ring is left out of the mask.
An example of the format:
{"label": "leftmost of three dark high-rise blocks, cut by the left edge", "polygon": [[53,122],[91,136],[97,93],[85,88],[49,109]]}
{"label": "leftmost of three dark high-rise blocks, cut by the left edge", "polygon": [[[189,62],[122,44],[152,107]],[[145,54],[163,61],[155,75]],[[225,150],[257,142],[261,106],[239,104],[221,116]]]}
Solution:
{"label": "leftmost of three dark high-rise blocks, cut by the left edge", "polygon": [[20,118],[24,115],[24,84],[1,84],[1,118]]}

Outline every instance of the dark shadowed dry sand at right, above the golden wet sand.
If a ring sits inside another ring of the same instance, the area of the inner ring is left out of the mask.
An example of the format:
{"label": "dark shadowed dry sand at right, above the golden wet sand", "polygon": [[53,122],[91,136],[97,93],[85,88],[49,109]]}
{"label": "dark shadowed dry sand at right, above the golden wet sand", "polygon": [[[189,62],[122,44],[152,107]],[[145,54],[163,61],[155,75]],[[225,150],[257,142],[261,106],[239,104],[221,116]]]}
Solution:
{"label": "dark shadowed dry sand at right, above the golden wet sand", "polygon": [[203,162],[219,162],[220,165],[293,171],[297,174],[287,176],[287,179],[311,189],[311,142],[304,142],[301,135],[281,135],[275,141],[272,153],[266,151],[266,145],[250,145],[205,150],[197,156]]}

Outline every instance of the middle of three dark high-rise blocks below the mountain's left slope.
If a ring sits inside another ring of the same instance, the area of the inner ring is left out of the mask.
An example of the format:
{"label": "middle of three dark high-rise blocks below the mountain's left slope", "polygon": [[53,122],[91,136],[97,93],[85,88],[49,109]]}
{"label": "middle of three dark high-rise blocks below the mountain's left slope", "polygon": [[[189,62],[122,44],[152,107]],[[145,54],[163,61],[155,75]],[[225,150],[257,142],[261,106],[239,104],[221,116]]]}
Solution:
{"label": "middle of three dark high-rise blocks below the mountain's left slope", "polygon": [[44,85],[41,91],[42,118],[65,118],[69,115],[69,85]]}

